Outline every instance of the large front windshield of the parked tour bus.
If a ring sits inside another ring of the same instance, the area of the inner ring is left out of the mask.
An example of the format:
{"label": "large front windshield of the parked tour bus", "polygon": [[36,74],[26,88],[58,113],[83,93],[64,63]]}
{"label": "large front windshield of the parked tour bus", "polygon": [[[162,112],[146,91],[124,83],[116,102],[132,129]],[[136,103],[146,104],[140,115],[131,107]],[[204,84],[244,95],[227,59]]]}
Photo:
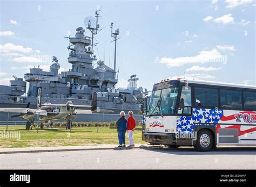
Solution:
{"label": "large front windshield of the parked tour bus", "polygon": [[149,115],[173,114],[176,107],[178,88],[166,88],[152,91]]}

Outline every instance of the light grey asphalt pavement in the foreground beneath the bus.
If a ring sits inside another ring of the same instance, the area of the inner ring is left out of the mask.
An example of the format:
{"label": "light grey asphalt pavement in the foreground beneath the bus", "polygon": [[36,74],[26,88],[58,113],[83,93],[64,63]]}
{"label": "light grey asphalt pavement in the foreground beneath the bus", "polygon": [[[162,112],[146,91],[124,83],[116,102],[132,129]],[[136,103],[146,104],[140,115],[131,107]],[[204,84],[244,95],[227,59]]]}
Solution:
{"label": "light grey asphalt pavement in the foreground beneath the bus", "polygon": [[0,154],[0,169],[256,169],[256,147],[99,149]]}

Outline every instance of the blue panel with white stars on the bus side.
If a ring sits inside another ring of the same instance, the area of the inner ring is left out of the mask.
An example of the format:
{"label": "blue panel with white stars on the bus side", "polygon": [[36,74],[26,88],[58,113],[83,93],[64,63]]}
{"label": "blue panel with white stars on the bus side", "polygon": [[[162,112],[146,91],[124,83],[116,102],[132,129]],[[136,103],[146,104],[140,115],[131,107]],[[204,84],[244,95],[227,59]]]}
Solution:
{"label": "blue panel with white stars on the bus side", "polygon": [[177,118],[176,133],[192,133],[194,126],[198,123],[217,124],[223,116],[223,110],[217,109],[193,109],[193,115]]}

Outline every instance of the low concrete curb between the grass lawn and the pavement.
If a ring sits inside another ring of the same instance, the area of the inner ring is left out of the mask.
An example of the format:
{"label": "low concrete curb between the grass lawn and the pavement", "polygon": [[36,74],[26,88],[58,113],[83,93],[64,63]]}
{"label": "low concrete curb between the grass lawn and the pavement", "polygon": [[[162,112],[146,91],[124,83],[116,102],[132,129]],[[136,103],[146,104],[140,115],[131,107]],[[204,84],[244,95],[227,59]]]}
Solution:
{"label": "low concrete curb between the grass lawn and the pavement", "polygon": [[1,152],[0,149],[0,155],[1,154],[14,154],[14,153],[43,153],[43,152],[67,152],[67,151],[78,151],[78,150],[123,150],[123,149],[147,149],[149,147],[145,145],[141,145],[138,147],[95,147],[95,148],[75,148],[75,149],[49,149],[49,150],[14,150],[14,151],[6,151]]}

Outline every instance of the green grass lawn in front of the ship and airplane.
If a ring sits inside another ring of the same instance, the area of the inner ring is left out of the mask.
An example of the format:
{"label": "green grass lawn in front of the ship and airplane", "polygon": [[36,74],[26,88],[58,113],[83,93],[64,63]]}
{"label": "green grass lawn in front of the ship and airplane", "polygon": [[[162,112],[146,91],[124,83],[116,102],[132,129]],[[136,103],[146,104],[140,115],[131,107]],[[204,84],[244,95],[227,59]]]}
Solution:
{"label": "green grass lawn in front of the ship and airplane", "polygon": [[[116,144],[118,145],[117,130],[109,127],[77,127],[72,128],[71,133],[63,127],[39,130],[36,128],[26,131],[25,126],[9,126],[9,132],[20,132],[20,140],[3,138],[3,130],[6,126],[0,126],[0,148],[8,147],[48,147],[48,146],[85,146]],[[134,131],[134,143],[145,143],[142,141],[142,131]],[[129,139],[126,137],[126,145]]]}

